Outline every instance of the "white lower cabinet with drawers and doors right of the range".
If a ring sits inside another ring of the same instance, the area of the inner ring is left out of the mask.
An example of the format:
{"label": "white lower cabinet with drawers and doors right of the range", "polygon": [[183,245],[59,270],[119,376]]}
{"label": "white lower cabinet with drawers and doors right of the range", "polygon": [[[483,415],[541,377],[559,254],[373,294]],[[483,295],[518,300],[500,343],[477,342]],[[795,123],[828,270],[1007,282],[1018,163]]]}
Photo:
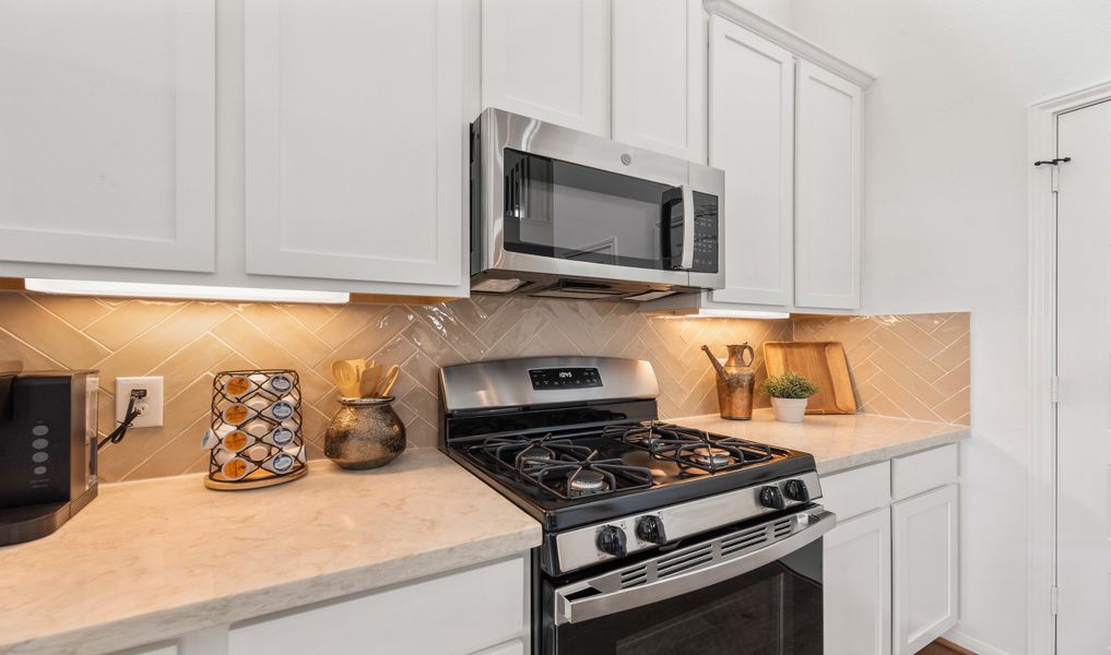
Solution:
{"label": "white lower cabinet with drawers and doors right of the range", "polygon": [[914,655],[957,625],[957,445],[823,476],[822,494],[838,515],[823,541],[827,655]]}

